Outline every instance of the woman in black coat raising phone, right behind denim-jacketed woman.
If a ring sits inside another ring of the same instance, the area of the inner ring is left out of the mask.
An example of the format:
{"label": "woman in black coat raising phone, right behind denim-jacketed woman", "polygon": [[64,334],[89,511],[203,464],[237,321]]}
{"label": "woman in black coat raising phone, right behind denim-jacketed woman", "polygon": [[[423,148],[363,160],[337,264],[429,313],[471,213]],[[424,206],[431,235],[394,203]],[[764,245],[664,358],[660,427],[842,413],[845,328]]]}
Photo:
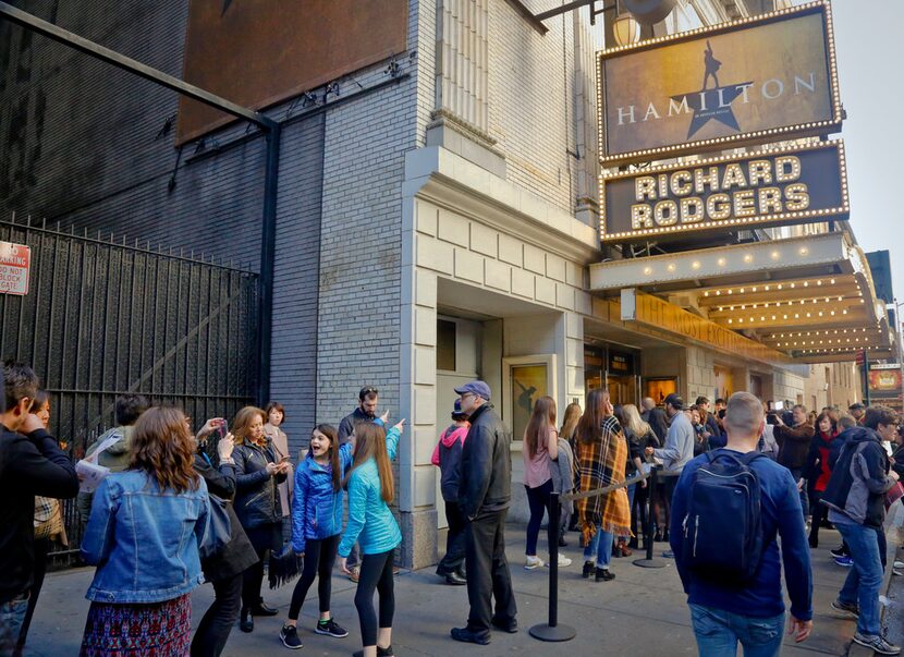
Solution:
{"label": "woman in black coat raising phone, right behind denim-jacketed woman", "polygon": [[[235,497],[235,461],[232,459],[235,443],[232,434],[220,438],[212,458],[207,453],[212,450],[208,450],[206,445],[210,434],[224,425],[223,419],[216,417],[208,419],[198,431],[199,447],[194,466],[204,477],[210,495],[232,501]],[[258,561],[231,503],[227,506],[227,515],[230,520],[229,543],[219,552],[201,561],[204,579],[213,585],[215,598],[195,631],[192,657],[219,657],[223,652],[242,607],[242,575]]]}

